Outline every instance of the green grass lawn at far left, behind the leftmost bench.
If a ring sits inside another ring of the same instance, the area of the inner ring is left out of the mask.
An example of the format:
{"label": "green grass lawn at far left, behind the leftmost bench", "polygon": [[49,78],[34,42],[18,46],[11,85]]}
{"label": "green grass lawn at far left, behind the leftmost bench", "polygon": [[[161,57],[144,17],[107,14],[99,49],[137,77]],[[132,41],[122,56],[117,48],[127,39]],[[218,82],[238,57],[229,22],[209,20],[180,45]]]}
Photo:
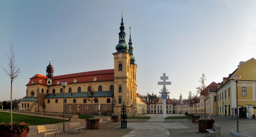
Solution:
{"label": "green grass lawn at far left, behind the leftmost bench", "polygon": [[[0,122],[8,123],[11,121],[11,114],[8,112],[0,112]],[[69,120],[65,120],[68,122]],[[63,122],[63,119],[42,118],[42,116],[30,116],[24,114],[12,113],[12,122],[25,122],[30,125],[53,124]]]}

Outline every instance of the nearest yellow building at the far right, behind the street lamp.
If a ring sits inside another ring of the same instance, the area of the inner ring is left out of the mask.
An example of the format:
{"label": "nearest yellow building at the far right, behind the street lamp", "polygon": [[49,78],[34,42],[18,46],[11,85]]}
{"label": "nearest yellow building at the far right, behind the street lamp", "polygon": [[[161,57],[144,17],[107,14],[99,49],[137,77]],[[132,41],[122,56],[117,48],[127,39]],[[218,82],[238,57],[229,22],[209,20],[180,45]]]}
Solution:
{"label": "nearest yellow building at the far right, behind the street lamp", "polygon": [[[223,82],[218,83],[217,114],[218,116],[236,117],[236,82],[233,76],[240,75],[238,81],[238,116],[252,118],[253,107],[256,104],[256,60],[241,61]],[[216,114],[216,113],[215,113]]]}

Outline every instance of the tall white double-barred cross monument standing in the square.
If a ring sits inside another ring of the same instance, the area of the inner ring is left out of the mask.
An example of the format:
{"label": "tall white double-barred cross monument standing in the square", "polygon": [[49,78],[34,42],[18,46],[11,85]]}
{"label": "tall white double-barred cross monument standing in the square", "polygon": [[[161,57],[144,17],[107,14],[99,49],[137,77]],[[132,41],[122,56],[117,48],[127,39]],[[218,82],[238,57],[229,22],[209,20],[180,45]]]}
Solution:
{"label": "tall white double-barred cross monument standing in the square", "polygon": [[162,92],[159,92],[162,95],[163,98],[163,116],[166,117],[166,98],[167,95],[170,93],[168,89],[166,90],[166,85],[171,85],[171,82],[167,82],[168,76],[165,76],[165,73],[163,73],[163,76],[160,76],[160,79],[163,80],[163,82],[158,82],[158,85],[163,85],[163,89],[161,89]]}

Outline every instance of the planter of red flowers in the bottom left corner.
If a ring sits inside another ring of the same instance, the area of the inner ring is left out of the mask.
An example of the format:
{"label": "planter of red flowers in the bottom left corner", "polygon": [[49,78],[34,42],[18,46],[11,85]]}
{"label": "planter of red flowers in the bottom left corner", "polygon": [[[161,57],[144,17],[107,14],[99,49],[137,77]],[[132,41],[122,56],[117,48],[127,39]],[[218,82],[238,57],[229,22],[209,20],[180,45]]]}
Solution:
{"label": "planter of red flowers in the bottom left corner", "polygon": [[29,124],[21,123],[1,123],[0,136],[1,137],[27,137],[30,131]]}

